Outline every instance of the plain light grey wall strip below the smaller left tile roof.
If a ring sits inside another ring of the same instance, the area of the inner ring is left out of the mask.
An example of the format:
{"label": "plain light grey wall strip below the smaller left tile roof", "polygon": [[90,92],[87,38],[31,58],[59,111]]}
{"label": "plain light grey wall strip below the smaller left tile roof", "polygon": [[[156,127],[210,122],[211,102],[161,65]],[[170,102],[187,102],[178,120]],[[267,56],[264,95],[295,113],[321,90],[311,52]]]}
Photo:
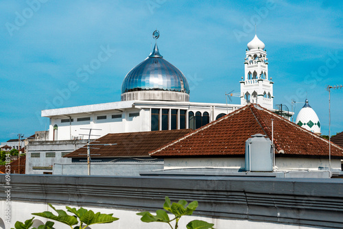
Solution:
{"label": "plain light grey wall strip below the smaller left tile roof", "polygon": [[[163,169],[163,161],[157,162],[92,162],[91,175],[139,176],[139,172]],[[55,164],[54,175],[88,175],[86,162]]]}

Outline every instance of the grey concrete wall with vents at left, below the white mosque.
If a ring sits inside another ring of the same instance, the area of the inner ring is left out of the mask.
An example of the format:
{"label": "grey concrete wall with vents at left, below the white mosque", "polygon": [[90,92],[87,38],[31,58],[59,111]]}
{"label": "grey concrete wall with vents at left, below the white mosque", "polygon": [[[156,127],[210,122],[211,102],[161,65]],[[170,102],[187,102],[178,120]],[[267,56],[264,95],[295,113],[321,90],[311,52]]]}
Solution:
{"label": "grey concrete wall with vents at left, below the white mosque", "polygon": [[[71,158],[63,158],[62,154],[71,153],[86,145],[84,140],[75,141],[29,141],[26,148],[26,174],[52,173],[55,163],[70,163]],[[39,153],[39,158],[32,157]],[[55,153],[55,157],[47,157],[47,153]]]}

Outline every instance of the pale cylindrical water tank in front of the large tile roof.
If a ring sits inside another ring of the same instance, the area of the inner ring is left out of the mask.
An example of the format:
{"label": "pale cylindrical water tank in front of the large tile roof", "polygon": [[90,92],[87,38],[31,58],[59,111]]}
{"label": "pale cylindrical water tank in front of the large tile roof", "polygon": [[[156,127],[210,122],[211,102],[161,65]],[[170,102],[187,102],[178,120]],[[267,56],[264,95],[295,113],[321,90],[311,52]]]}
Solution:
{"label": "pale cylindrical water tank in front of the large tile roof", "polygon": [[272,141],[263,134],[246,141],[246,171],[273,171]]}

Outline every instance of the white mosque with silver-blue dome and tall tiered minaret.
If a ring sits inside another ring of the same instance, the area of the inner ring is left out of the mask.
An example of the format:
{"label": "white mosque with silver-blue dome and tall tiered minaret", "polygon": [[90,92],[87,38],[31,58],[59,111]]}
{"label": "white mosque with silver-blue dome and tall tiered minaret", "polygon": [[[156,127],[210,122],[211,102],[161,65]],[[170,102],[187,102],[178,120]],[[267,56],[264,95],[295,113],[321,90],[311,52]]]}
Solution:
{"label": "white mosque with silver-blue dome and tall tiered minaret", "polygon": [[[155,31],[154,38],[159,33]],[[150,55],[128,72],[121,86],[121,101],[43,110],[50,119],[49,141],[80,139],[84,129],[97,136],[108,133],[197,129],[248,103],[273,109],[272,77],[264,43],[255,37],[248,43],[244,77],[239,82],[241,104],[189,101],[185,75],[163,58],[157,43]]]}

